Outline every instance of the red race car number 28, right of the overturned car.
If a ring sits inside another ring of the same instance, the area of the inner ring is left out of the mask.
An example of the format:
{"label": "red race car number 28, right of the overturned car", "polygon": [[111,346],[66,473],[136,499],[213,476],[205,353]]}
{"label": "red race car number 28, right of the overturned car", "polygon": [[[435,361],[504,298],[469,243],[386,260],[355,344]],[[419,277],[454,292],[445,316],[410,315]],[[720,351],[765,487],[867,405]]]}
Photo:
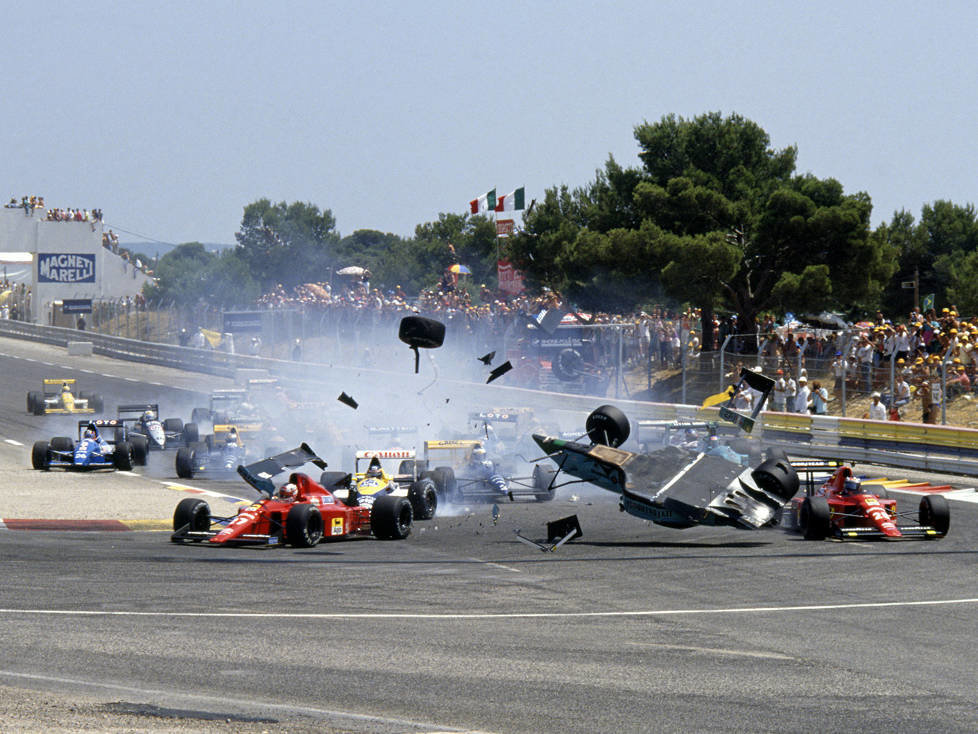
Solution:
{"label": "red race car number 28, right of the overturned car", "polygon": [[828,536],[839,540],[939,540],[947,535],[951,511],[944,497],[924,496],[914,517],[912,512],[897,510],[896,499],[888,495],[882,484],[863,483],[849,466],[838,467],[822,484],[814,479],[816,472],[834,465],[792,462],[795,470],[807,478],[805,493],[794,497],[785,508],[785,525],[800,531],[806,540]]}

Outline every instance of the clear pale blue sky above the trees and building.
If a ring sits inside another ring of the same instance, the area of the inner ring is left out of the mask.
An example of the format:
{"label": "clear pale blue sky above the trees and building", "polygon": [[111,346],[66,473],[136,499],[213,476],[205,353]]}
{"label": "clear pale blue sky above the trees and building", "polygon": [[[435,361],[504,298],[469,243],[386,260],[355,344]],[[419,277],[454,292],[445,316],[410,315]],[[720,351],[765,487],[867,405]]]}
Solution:
{"label": "clear pale blue sky above the trees and building", "polygon": [[[0,197],[233,242],[258,198],[410,236],[495,187],[638,164],[635,125],[736,112],[873,225],[978,200],[978,3],[6,4]],[[123,241],[138,238],[123,233]]]}

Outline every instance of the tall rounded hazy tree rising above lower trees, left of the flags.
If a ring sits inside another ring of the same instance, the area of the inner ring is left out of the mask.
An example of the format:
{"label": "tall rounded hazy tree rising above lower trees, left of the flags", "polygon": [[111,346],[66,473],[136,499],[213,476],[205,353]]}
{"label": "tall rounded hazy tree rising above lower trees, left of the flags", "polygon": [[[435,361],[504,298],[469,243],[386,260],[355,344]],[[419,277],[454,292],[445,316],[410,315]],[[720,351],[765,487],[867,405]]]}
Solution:
{"label": "tall rounded hazy tree rising above lower trees, left of the flags", "polygon": [[259,199],[244,208],[241,229],[234,237],[238,256],[267,291],[277,283],[289,288],[328,280],[336,264],[333,248],[339,236],[335,227],[328,209]]}

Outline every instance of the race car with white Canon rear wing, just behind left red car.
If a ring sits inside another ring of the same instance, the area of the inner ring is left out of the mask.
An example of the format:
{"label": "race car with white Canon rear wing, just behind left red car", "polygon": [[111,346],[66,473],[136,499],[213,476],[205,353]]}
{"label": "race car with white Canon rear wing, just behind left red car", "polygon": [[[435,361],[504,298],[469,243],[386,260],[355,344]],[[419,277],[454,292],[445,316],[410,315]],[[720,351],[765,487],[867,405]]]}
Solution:
{"label": "race car with white Canon rear wing, just behind left red car", "polygon": [[[406,497],[416,520],[430,520],[438,509],[438,487],[428,473],[417,473],[413,449],[357,451],[353,474],[323,472],[320,483],[347,504],[369,507],[383,496]],[[384,470],[381,460],[397,460],[397,473]]]}

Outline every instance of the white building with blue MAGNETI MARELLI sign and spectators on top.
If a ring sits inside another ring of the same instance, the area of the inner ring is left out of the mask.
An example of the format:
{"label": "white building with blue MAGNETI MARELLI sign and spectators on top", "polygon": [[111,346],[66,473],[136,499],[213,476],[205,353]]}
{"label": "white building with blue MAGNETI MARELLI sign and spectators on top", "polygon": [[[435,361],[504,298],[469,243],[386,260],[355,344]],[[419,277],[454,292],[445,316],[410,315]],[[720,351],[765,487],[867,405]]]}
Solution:
{"label": "white building with blue MAGNETI MARELLI sign and spectators on top", "polygon": [[151,278],[102,245],[101,221],[49,221],[47,209],[0,209],[0,267],[31,289],[31,320],[50,324],[69,301],[115,301]]}

